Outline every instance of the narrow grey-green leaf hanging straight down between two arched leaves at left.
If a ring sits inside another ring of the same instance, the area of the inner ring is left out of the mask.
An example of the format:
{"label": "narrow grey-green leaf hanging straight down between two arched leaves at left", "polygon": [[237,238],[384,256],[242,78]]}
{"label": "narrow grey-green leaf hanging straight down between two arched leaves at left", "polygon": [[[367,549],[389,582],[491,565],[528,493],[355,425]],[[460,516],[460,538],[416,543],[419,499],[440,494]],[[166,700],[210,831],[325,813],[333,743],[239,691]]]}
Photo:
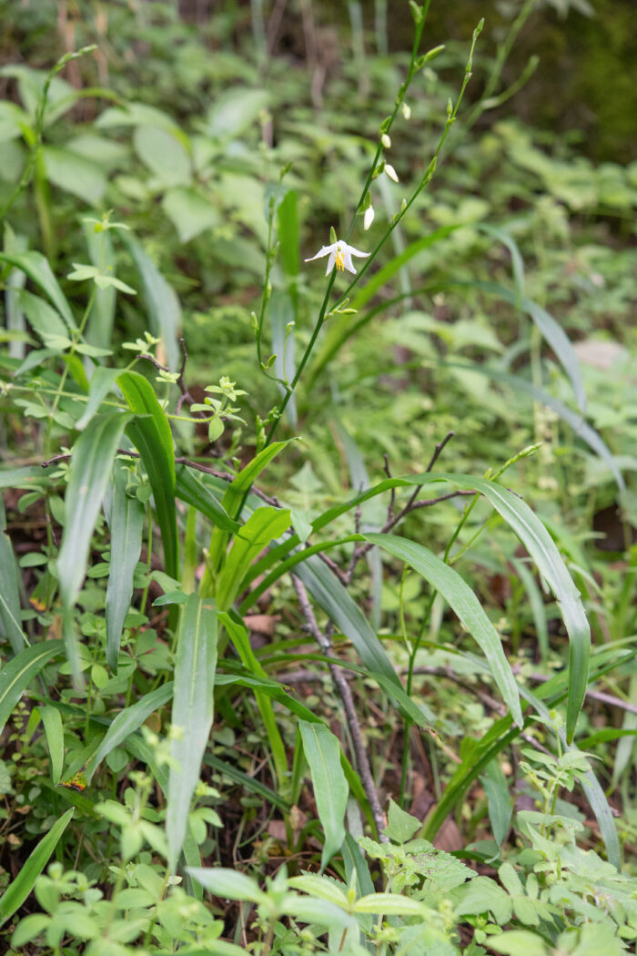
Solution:
{"label": "narrow grey-green leaf hanging straight down between two arched leaves at left", "polygon": [[117,671],[117,656],[124,620],[133,597],[133,576],[141,553],[144,508],[135,495],[128,494],[130,469],[116,463],[111,507],[111,559],[106,588],[106,660]]}

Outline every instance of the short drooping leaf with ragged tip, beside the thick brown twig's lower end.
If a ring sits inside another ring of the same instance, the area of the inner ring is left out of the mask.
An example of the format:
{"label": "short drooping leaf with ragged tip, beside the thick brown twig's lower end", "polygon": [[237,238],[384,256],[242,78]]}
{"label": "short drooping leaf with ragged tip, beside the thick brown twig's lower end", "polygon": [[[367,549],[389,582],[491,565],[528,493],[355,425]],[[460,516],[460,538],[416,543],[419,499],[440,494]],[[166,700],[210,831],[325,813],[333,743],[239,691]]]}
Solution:
{"label": "short drooping leaf with ragged tip, beside the thick brown twig's lower end", "polygon": [[325,833],[321,872],[341,848],[345,839],[345,811],[350,789],[341,768],[341,747],[324,724],[299,722],[303,749],[312,777],[314,799]]}

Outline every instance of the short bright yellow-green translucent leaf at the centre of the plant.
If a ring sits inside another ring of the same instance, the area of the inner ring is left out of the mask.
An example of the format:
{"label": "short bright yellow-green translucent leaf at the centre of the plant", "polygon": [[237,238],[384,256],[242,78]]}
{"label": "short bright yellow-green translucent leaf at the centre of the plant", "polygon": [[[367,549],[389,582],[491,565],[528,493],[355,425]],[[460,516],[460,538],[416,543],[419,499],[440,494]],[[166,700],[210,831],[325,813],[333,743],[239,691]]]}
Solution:
{"label": "short bright yellow-green translucent leaf at the centre of the plant", "polygon": [[245,568],[257,554],[289,528],[289,511],[278,508],[258,508],[253,511],[234,542],[219,576],[216,599],[220,611],[226,611],[237,597]]}

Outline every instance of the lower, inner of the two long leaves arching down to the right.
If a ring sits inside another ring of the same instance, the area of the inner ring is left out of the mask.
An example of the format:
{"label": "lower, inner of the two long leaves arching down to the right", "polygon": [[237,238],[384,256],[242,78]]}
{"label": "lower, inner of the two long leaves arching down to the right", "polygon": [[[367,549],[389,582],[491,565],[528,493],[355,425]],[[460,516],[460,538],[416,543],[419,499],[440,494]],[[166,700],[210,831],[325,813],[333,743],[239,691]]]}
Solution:
{"label": "lower, inner of the two long leaves arching down to the right", "polygon": [[[487,483],[488,484],[488,483]],[[393,554],[409,564],[414,571],[423,576],[432,584],[436,591],[445,598],[449,606],[455,611],[462,626],[471,634],[482,649],[489,663],[491,673],[506,706],[520,727],[522,712],[520,695],[511,666],[504,656],[499,634],[491,621],[487,618],[478,597],[468,584],[449,565],[445,564],[427,548],[397,537],[395,534],[364,534],[366,541],[372,541],[384,551]]]}

